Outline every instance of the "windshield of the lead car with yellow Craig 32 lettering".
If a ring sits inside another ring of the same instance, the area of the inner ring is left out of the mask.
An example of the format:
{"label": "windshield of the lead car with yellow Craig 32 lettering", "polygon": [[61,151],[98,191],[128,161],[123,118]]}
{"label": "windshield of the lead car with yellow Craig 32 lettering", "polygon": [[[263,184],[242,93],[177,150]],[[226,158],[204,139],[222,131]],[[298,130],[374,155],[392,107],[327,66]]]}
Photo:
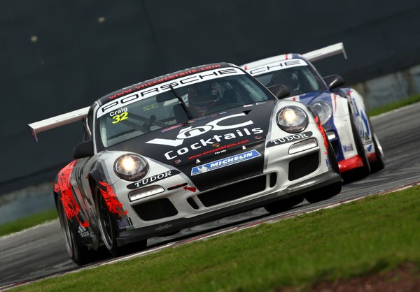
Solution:
{"label": "windshield of the lead car with yellow Craig 32 lettering", "polygon": [[[232,68],[233,69],[233,68]],[[253,78],[235,68],[235,75],[213,78],[192,85],[162,85],[154,95],[141,92],[106,103],[99,108],[97,134],[104,147],[190,119],[241,105],[275,99]],[[174,84],[174,82],[172,82]],[[181,82],[180,82],[181,84]],[[151,92],[148,89],[148,92]],[[115,104],[115,105],[113,105]],[[110,110],[108,110],[110,108]],[[98,139],[99,140],[99,139]]]}

